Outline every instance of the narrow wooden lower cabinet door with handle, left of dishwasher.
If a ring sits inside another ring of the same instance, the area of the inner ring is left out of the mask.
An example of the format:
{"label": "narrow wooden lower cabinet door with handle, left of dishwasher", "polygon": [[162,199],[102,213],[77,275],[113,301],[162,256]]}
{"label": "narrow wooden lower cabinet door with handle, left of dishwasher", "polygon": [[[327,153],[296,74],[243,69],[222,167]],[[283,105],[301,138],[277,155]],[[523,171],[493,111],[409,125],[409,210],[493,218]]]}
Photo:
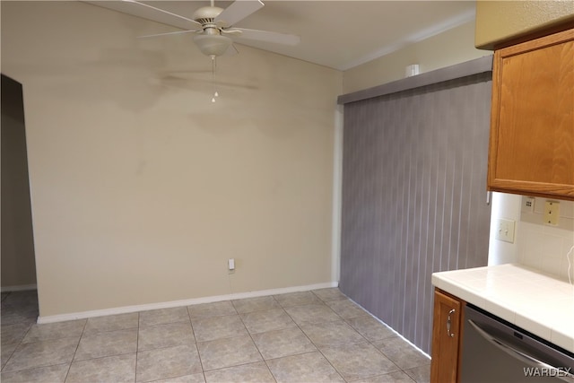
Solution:
{"label": "narrow wooden lower cabinet door with handle, left of dishwasher", "polygon": [[431,383],[457,381],[462,302],[435,290],[432,318]]}

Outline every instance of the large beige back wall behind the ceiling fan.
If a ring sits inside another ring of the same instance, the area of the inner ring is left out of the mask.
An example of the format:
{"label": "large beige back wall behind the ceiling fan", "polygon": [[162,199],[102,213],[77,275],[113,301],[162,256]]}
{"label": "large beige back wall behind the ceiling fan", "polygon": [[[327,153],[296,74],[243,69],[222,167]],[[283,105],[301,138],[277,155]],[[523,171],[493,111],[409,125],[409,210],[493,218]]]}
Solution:
{"label": "large beige back wall behind the ceiling fan", "polygon": [[239,47],[212,103],[188,36],[135,39],[164,30],[91,4],[2,2],[40,316],[332,280],[342,74]]}

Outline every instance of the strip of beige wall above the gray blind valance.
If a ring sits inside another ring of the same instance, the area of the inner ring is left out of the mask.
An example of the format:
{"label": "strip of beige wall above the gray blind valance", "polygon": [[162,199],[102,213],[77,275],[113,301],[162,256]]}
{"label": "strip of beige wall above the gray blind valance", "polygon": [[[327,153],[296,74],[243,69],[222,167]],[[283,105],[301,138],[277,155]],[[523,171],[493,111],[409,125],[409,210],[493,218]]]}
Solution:
{"label": "strip of beige wall above the gray blind valance", "polygon": [[489,55],[474,48],[474,21],[411,44],[344,72],[343,91],[361,91],[404,78],[407,65],[418,64],[421,73]]}

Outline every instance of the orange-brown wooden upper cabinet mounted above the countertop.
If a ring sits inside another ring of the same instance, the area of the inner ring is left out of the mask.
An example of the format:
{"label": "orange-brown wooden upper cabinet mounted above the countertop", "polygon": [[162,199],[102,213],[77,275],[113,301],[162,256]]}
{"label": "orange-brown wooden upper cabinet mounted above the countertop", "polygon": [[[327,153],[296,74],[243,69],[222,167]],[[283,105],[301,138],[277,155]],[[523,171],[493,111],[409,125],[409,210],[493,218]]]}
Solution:
{"label": "orange-brown wooden upper cabinet mounted above the countertop", "polygon": [[488,188],[574,200],[574,29],[494,52]]}

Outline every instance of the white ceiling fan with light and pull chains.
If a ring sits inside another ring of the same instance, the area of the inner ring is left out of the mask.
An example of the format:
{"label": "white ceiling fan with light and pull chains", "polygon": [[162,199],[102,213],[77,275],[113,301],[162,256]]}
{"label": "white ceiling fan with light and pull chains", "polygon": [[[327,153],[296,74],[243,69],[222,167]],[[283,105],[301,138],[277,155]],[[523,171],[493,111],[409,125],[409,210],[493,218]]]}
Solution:
{"label": "white ceiling fan with light and pull chains", "polygon": [[146,7],[148,9],[152,9],[154,12],[164,13],[170,17],[178,18],[189,23],[188,30],[147,35],[142,36],[142,38],[179,33],[196,33],[194,36],[194,42],[196,43],[197,48],[199,48],[205,56],[209,56],[212,59],[224,54],[237,52],[237,49],[233,46],[233,40],[228,36],[285,45],[297,45],[300,42],[299,36],[291,34],[272,32],[268,30],[248,30],[245,28],[234,27],[237,22],[240,22],[264,6],[263,2],[260,0],[236,0],[225,9],[215,6],[214,0],[211,0],[210,6],[204,6],[196,10],[192,16],[193,19],[189,19],[176,13],[170,13],[169,11],[154,7],[150,4],[141,3],[136,0],[123,1]]}

